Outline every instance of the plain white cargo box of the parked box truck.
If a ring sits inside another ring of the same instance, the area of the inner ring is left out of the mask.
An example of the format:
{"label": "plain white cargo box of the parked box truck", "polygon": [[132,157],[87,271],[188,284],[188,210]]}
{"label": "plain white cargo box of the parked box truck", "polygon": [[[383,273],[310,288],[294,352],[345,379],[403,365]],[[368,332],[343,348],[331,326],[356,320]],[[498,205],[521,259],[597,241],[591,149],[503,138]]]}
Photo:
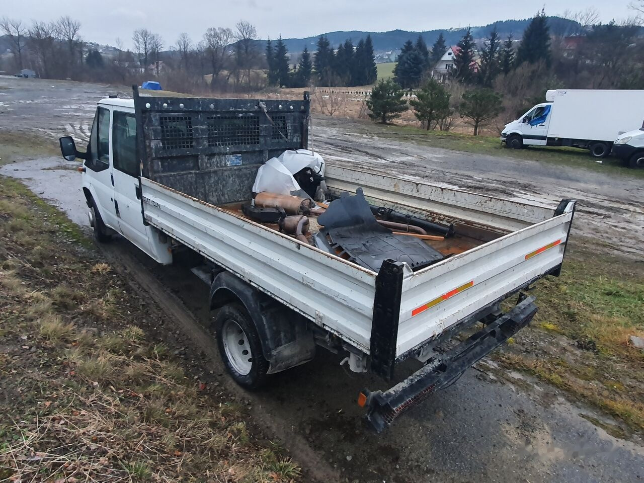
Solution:
{"label": "plain white cargo box of the parked box truck", "polygon": [[548,137],[613,142],[620,133],[639,129],[644,119],[644,90],[548,91],[553,113]]}

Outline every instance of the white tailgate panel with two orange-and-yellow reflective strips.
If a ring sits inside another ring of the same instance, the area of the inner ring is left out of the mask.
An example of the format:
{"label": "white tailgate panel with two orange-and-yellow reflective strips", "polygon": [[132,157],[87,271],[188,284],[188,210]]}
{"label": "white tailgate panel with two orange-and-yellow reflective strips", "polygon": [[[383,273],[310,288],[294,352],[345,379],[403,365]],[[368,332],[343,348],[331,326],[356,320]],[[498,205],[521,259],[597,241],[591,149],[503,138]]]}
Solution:
{"label": "white tailgate panel with two orange-and-yellow reflective strips", "polygon": [[[402,355],[428,341],[556,267],[564,258],[572,216],[564,213],[507,234],[404,279],[396,354]],[[526,259],[527,255],[556,242],[557,245]],[[469,283],[471,287],[450,296],[450,292]],[[444,301],[412,315],[413,311],[446,294]]]}

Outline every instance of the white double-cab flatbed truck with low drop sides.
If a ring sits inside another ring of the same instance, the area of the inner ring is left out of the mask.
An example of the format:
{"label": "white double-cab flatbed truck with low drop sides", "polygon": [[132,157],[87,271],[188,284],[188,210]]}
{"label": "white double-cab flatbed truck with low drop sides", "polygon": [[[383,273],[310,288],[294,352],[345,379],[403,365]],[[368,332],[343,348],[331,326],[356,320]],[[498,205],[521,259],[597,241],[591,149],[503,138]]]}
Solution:
{"label": "white double-cab flatbed truck with low drop sides", "polygon": [[[86,153],[71,137],[61,138],[61,151],[84,159],[82,190],[99,241],[117,232],[164,264],[186,248],[198,254],[194,272],[211,285],[204,304],[216,311],[223,363],[242,386],[310,361],[316,346],[386,381],[401,361],[420,361],[389,390],[357,395],[381,431],[531,321],[535,300],[522,290],[559,274],[575,202],[553,210],[327,166],[330,193],[361,188],[376,205],[455,227],[435,245],[445,254],[436,263],[366,269],[238,209],[263,162],[307,147],[309,106],[306,93],[300,101],[193,99],[135,88],[134,99],[100,100]],[[501,312],[513,295],[515,307]]]}

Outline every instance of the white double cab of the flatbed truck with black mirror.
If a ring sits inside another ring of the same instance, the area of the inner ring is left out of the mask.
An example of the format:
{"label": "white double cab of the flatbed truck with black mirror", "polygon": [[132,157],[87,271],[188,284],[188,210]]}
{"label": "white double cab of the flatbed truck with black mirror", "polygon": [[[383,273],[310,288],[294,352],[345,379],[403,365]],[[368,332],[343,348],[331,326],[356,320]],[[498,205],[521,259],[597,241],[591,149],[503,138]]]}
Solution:
{"label": "white double cab of the flatbed truck with black mirror", "polygon": [[82,191],[97,240],[118,233],[158,263],[172,263],[167,237],[144,222],[142,215],[134,101],[100,100],[86,153],[77,151],[71,137],[61,138],[61,150],[66,158],[84,160],[79,169]]}

